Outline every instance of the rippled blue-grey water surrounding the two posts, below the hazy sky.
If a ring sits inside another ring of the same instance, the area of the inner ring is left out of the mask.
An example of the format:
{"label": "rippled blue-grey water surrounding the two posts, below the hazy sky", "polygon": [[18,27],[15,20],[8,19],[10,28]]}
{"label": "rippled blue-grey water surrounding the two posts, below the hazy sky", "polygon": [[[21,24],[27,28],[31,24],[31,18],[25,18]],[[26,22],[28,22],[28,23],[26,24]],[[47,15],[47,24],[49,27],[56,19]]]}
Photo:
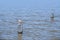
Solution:
{"label": "rippled blue-grey water surrounding the two posts, below the hazy sky", "polygon": [[60,40],[60,13],[51,10],[19,10],[0,13],[0,39],[18,40],[18,22],[23,20],[22,40]]}

